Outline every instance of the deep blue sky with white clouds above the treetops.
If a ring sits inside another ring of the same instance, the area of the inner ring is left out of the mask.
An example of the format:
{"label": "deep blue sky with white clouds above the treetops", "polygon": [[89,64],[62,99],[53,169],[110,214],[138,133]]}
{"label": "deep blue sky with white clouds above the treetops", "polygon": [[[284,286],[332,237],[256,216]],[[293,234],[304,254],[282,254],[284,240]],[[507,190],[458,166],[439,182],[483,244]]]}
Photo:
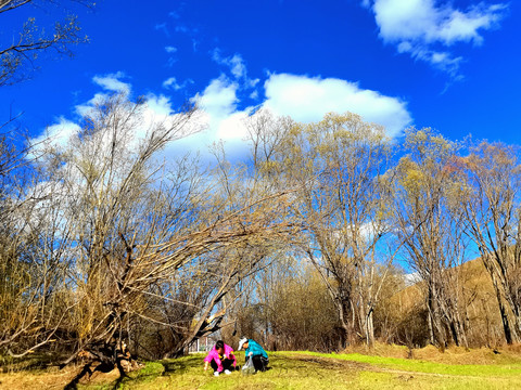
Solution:
{"label": "deep blue sky with white clouds above the treetops", "polygon": [[90,42],[0,91],[0,119],[24,112],[34,136],[75,131],[81,107],[123,90],[158,116],[199,101],[193,148],[242,147],[242,119],[262,106],[300,121],[351,110],[393,136],[414,125],[521,143],[519,1],[101,0],[0,15],[0,43],[29,16],[66,12]]}

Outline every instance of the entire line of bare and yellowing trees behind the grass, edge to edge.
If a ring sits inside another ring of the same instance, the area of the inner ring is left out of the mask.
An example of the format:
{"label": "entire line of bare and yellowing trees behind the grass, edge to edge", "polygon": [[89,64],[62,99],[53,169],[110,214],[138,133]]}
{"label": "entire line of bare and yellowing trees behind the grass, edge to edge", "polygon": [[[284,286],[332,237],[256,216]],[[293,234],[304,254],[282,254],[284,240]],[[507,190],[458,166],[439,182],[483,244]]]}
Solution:
{"label": "entire line of bare and yellowing trees behind the grass, edge to edge", "polygon": [[0,140],[0,354],[118,365],[124,344],[174,356],[217,330],[269,349],[519,342],[517,147],[259,110],[243,161],[161,162],[198,112],[145,105],[99,101],[67,142]]}

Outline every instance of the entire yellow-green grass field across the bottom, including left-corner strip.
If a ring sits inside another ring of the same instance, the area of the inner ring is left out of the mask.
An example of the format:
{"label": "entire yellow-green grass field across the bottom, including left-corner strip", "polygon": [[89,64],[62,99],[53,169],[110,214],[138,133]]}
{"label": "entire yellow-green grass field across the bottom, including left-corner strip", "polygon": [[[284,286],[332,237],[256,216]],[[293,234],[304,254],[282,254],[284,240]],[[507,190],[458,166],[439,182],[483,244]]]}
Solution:
{"label": "entire yellow-green grass field across the bottom, including left-corner strip", "polygon": [[[490,350],[431,353],[428,360],[314,352],[269,356],[271,369],[251,376],[234,372],[214,377],[202,369],[204,355],[195,354],[148,362],[126,378],[118,378],[116,372],[94,374],[78,389],[521,389],[521,358]],[[243,362],[243,354],[238,358]],[[475,361],[487,364],[461,364]],[[0,374],[0,389],[63,389],[77,369]]]}

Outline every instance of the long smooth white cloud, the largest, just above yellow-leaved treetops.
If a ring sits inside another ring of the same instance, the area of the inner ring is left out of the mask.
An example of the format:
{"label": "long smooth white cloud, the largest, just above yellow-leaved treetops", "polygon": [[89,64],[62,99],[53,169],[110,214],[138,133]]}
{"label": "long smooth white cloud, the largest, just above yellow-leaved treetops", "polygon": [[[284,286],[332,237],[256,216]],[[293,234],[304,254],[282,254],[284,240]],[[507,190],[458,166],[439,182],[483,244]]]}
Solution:
{"label": "long smooth white cloud, the largest, just above yellow-leaved treetops", "polygon": [[352,112],[383,125],[390,135],[398,134],[411,121],[403,101],[341,79],[278,74],[269,77],[265,89],[264,106],[297,121],[318,121],[330,112]]}

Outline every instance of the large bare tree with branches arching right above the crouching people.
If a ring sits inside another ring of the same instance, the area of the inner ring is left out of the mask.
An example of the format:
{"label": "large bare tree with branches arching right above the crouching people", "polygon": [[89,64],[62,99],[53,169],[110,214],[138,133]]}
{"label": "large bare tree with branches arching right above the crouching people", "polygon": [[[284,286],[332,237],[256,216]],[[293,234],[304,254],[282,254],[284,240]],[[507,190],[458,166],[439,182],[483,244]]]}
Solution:
{"label": "large bare tree with branches arching right above the crouching people", "polygon": [[158,153],[191,133],[194,112],[152,120],[147,109],[124,94],[101,100],[41,159],[66,226],[56,234],[67,238],[66,277],[53,289],[74,306],[60,322],[64,364],[86,351],[122,369],[123,341],[142,351],[152,328],[168,337],[164,354],[218,329],[224,297],[288,230],[283,194],[225,160],[215,172],[190,158],[163,166]]}

